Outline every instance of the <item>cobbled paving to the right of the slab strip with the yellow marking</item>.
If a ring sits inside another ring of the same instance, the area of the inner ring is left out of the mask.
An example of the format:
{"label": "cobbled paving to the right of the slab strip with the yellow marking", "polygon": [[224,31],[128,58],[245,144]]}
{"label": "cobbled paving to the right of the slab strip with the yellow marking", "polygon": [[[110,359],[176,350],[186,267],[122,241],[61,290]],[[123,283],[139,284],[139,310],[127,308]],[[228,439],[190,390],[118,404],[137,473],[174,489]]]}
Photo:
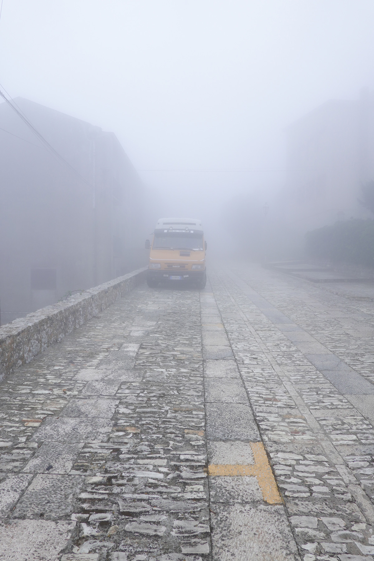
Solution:
{"label": "cobbled paving to the right of the slab strip with the yellow marking", "polygon": [[371,302],[258,268],[210,278],[303,559],[372,559]]}

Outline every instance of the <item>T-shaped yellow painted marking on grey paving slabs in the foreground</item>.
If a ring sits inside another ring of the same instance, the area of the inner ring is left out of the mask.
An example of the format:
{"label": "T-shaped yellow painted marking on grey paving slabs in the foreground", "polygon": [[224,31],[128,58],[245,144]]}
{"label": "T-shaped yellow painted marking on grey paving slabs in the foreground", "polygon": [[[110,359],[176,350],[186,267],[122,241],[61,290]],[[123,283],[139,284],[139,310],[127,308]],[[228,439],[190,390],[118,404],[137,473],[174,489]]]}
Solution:
{"label": "T-shaped yellow painted marking on grey paving slabs in the foreground", "polygon": [[281,504],[282,499],[267,460],[264,444],[262,442],[252,442],[251,448],[255,458],[254,464],[233,466],[211,464],[208,466],[209,475],[212,477],[252,475],[257,479],[264,500],[269,504]]}

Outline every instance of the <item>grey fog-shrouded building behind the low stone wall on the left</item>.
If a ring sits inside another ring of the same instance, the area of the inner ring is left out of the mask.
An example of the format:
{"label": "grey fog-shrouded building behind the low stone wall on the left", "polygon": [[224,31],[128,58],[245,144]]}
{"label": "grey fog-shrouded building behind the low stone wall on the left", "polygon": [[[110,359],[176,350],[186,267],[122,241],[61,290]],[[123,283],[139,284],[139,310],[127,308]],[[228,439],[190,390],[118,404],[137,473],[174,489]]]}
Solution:
{"label": "grey fog-shrouded building behind the low stone wall on the left", "polygon": [[[144,263],[144,187],[112,132],[26,99],[0,104],[1,323]],[[7,131],[7,132],[5,132]]]}

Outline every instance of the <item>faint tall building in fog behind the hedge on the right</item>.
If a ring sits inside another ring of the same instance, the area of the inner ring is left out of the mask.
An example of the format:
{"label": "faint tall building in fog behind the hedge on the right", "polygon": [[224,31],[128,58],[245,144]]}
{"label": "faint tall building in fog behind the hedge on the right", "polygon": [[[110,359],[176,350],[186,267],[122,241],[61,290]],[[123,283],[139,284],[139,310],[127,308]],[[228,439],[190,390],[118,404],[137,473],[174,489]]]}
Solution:
{"label": "faint tall building in fog behind the hedge on the right", "polygon": [[372,217],[358,203],[361,183],[374,180],[374,94],[332,100],[287,131],[286,213],[311,229],[350,217]]}

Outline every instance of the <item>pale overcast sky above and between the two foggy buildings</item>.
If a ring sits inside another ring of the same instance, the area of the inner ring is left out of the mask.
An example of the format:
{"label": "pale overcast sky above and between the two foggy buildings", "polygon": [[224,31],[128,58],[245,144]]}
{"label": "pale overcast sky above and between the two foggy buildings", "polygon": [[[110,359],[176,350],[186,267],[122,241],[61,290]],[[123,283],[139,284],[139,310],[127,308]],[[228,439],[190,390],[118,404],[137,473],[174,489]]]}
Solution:
{"label": "pale overcast sky above and between the two foggy buildings", "polygon": [[373,0],[3,0],[0,82],[115,132],[167,170],[150,187],[225,199],[281,181],[288,123],[374,87],[373,29]]}

